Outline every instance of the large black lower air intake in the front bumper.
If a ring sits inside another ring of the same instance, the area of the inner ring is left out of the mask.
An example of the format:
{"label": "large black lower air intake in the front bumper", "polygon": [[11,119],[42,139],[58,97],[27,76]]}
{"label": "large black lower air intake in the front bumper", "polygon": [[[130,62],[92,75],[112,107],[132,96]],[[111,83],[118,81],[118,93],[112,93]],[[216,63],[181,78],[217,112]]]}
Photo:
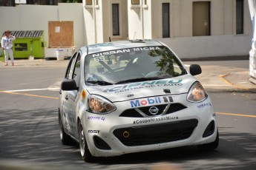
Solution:
{"label": "large black lower air intake in the front bumper", "polygon": [[146,126],[115,129],[114,135],[125,146],[142,146],[185,140],[191,136],[198,120],[180,120]]}

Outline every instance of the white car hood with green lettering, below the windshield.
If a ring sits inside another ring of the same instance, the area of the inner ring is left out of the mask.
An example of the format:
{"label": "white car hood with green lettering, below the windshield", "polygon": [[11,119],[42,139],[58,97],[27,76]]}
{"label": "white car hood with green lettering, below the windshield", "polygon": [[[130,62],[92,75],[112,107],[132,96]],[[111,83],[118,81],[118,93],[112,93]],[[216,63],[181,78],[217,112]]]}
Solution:
{"label": "white car hood with green lettering, below the windshield", "polygon": [[131,84],[111,86],[88,86],[91,95],[101,95],[112,102],[133,100],[159,95],[177,95],[187,93],[191,85],[197,81],[191,75],[155,81],[140,81]]}

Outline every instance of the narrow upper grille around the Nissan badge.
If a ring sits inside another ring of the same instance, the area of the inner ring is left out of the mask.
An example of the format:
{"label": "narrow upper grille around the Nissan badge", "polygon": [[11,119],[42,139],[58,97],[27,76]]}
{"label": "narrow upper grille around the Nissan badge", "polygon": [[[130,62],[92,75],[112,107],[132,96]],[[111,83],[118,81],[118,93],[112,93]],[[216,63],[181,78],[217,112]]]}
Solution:
{"label": "narrow upper grille around the Nissan badge", "polygon": [[177,112],[187,108],[181,103],[157,105],[155,107],[157,107],[159,111],[156,115],[152,115],[151,112],[149,112],[149,109],[151,107],[152,106],[145,106],[145,107],[139,107],[136,109],[127,109],[124,112],[122,112],[122,114],[119,116],[128,117],[128,118],[145,118],[145,117],[152,117],[152,116],[159,116],[159,115],[168,115],[170,113]]}

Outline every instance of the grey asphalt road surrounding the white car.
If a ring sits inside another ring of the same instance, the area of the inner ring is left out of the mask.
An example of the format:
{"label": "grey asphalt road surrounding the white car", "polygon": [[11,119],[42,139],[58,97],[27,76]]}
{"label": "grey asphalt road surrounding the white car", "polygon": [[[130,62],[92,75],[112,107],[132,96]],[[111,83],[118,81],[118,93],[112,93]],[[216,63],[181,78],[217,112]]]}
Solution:
{"label": "grey asphalt road surrounding the white car", "polygon": [[248,82],[249,61],[197,63],[197,78],[217,112],[220,145],[127,154],[85,163],[77,146],[62,146],[57,108],[68,61],[0,64],[0,169],[255,169],[256,85]]}

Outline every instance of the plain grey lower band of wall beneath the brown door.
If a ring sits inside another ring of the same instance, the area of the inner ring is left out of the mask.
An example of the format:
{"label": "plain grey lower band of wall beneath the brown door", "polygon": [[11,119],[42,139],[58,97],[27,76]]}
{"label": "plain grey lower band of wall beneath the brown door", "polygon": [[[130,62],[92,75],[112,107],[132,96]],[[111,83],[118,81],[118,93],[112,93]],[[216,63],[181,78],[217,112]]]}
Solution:
{"label": "plain grey lower band of wall beneath the brown door", "polygon": [[212,35],[180,38],[156,38],[171,47],[180,58],[249,55],[251,35]]}

